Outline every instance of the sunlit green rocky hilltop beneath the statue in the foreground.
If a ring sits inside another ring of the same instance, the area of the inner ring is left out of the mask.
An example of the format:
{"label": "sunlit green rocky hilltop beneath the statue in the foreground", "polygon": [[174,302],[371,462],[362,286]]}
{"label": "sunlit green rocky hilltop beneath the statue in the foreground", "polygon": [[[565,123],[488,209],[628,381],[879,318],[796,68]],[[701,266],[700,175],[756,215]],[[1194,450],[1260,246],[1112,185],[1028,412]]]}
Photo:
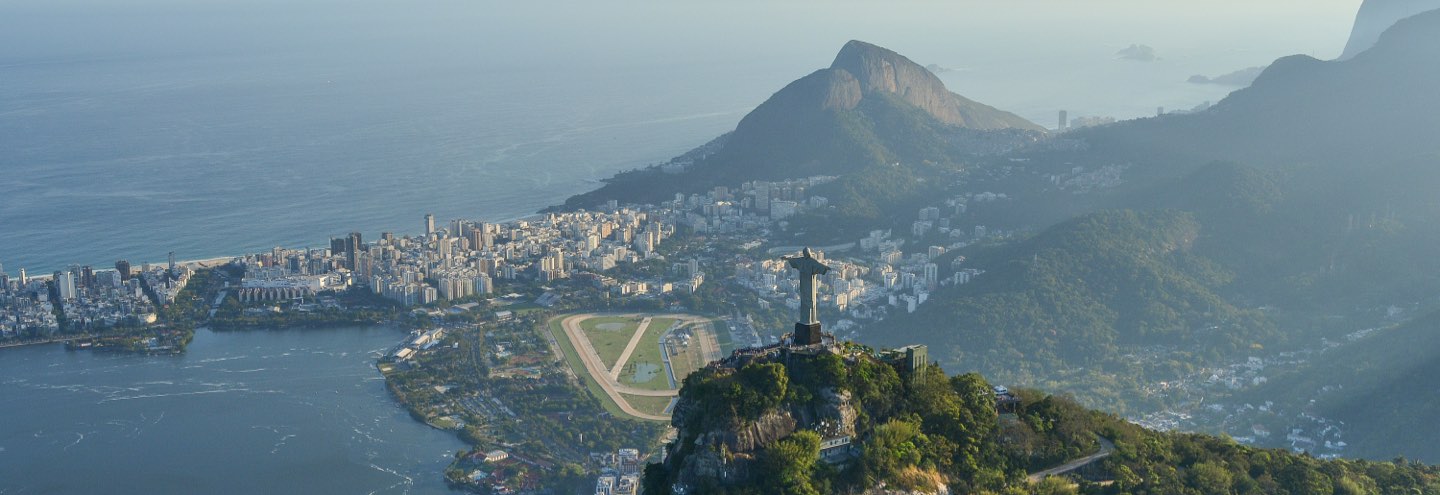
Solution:
{"label": "sunlit green rocky hilltop beneath the statue in the foreground", "polygon": [[[1001,414],[984,377],[901,363],[842,344],[691,374],[677,440],[645,469],[645,494],[1440,492],[1431,466],[1156,433],[1038,391],[1007,396],[1014,401]],[[1027,481],[1106,452],[1079,483]]]}

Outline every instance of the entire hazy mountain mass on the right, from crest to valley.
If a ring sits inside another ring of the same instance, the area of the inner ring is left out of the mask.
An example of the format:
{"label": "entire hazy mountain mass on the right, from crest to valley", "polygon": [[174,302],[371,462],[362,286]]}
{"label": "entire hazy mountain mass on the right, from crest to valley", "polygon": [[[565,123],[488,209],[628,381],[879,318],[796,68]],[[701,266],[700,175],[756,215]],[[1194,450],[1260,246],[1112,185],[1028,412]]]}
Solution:
{"label": "entire hazy mountain mass on the right, from crest to valley", "polygon": [[[1126,410],[1136,397],[1116,401],[1117,390],[1428,301],[1440,294],[1440,94],[1428,89],[1440,71],[1414,60],[1437,56],[1440,12],[1346,62],[1282,59],[1211,111],[1073,132],[1087,148],[1004,164],[1133,167],[1126,187],[1068,200],[1096,213],[962,250],[956,268],[986,273],[867,338],[926,342],[950,370]],[[1237,161],[1207,163],[1220,157]],[[1067,197],[1031,197],[1043,194]]]}

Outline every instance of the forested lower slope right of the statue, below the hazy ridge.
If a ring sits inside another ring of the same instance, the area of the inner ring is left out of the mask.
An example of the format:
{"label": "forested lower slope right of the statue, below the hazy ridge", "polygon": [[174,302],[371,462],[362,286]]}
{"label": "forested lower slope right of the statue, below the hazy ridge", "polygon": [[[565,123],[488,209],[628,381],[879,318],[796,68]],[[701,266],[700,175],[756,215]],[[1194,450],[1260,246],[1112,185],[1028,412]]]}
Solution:
{"label": "forested lower slope right of the statue, below the hazy ridge", "polygon": [[1115,209],[942,258],[985,273],[865,335],[1128,410],[1128,393],[1156,381],[1440,294],[1436,183],[1437,157],[1367,170],[1208,164],[1117,194]]}

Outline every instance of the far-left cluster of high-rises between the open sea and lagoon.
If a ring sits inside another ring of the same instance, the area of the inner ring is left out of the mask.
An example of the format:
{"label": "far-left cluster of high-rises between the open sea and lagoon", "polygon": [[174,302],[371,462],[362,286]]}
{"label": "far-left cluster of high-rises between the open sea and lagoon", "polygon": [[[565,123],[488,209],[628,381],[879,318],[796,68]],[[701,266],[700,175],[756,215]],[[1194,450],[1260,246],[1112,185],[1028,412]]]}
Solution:
{"label": "far-left cluster of high-rises between the open sea and lagoon", "polygon": [[168,266],[145,263],[138,272],[124,260],[114,269],[71,265],[45,276],[20,269],[19,278],[0,266],[0,338],[49,337],[62,330],[62,321],[65,330],[78,332],[153,324],[156,305],[174,302],[190,275],[173,260]]}

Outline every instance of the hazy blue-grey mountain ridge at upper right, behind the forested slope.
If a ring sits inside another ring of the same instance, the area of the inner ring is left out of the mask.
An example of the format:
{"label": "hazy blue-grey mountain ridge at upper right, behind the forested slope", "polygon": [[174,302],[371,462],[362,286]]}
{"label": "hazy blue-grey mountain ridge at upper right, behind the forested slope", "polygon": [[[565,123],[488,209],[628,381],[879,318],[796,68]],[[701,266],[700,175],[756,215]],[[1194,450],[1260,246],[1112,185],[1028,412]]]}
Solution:
{"label": "hazy blue-grey mountain ridge at upper right, behind the forested slope", "polygon": [[[1074,132],[1104,154],[1184,174],[1233,160],[1257,167],[1390,161],[1440,151],[1440,10],[1395,23],[1348,60],[1305,55],[1272,63],[1208,111]],[[1161,158],[1164,157],[1164,158]]]}

